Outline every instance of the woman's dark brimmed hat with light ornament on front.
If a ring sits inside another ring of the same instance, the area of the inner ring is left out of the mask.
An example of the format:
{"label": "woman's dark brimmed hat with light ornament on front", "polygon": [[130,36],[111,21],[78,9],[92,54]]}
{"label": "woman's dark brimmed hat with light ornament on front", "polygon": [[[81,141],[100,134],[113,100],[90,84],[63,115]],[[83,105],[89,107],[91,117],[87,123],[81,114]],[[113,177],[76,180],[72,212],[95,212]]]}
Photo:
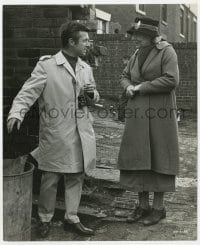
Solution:
{"label": "woman's dark brimmed hat with light ornament on front", "polygon": [[134,35],[141,33],[150,37],[159,36],[159,21],[151,18],[136,18],[134,25],[127,31],[128,34]]}

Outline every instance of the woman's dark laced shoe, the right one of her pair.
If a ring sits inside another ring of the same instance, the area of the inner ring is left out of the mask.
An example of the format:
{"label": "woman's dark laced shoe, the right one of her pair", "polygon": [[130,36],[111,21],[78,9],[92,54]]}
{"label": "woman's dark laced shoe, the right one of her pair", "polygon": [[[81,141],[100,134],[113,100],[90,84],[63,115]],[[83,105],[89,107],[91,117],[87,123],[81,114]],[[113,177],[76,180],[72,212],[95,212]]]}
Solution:
{"label": "woman's dark laced shoe, the right one of her pair", "polygon": [[161,219],[164,219],[166,217],[166,209],[163,208],[161,210],[158,209],[152,209],[152,212],[149,216],[147,216],[143,220],[143,225],[155,225],[157,224]]}

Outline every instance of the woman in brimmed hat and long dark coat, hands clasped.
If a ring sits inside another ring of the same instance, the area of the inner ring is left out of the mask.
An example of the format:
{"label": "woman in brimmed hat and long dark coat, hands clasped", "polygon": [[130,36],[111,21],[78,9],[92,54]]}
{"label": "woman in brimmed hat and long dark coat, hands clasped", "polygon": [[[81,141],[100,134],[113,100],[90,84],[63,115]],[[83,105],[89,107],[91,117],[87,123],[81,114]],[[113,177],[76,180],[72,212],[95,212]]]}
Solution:
{"label": "woman in brimmed hat and long dark coat, hands clasped", "polygon": [[[164,192],[175,191],[178,137],[175,87],[179,82],[177,56],[158,34],[157,20],[136,18],[127,32],[137,50],[120,84],[129,97],[118,168],[120,183],[138,192],[139,205],[127,218],[144,225],[166,217]],[[149,192],[154,192],[153,207]]]}

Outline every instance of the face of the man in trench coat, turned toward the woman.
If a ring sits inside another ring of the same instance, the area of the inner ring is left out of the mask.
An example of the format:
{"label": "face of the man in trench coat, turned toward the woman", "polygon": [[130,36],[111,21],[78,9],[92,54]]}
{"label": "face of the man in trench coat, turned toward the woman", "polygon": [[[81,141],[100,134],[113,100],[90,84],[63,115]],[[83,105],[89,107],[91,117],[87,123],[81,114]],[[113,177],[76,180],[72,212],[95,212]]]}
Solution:
{"label": "face of the man in trench coat, turned toward the woman", "polygon": [[73,45],[74,54],[77,56],[85,56],[90,46],[90,39],[87,32],[80,31],[77,43]]}

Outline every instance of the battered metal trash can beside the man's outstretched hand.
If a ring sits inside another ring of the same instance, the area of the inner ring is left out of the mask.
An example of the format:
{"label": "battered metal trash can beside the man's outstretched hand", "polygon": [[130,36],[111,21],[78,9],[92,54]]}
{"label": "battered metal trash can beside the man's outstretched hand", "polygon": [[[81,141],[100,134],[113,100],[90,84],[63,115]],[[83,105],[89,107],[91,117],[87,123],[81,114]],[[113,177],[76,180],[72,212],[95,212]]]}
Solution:
{"label": "battered metal trash can beside the man's outstretched hand", "polygon": [[34,165],[26,158],[3,160],[3,239],[31,240]]}

